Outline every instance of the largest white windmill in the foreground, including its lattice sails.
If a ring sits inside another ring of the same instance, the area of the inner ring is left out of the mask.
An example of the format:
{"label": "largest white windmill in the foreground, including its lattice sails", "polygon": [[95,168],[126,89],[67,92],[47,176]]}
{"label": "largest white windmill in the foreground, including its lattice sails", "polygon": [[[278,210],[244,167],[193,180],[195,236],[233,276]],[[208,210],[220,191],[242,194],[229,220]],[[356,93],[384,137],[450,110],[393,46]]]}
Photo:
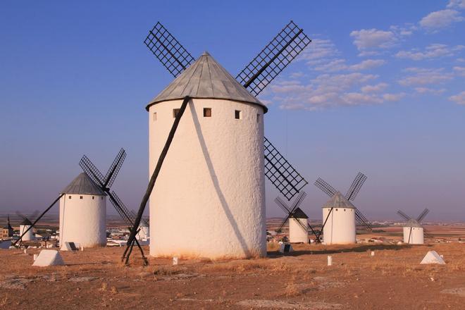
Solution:
{"label": "largest white windmill in the foreground, including its lattice sails", "polygon": [[[291,22],[234,78],[208,53],[194,61],[160,23],[149,32],[176,77],[147,106],[151,180],[134,227],[150,197],[151,255],[266,255],[265,175],[287,199],[306,181],[263,137],[268,109],[255,96],[309,42]],[[134,240],[133,229],[127,252]]]}

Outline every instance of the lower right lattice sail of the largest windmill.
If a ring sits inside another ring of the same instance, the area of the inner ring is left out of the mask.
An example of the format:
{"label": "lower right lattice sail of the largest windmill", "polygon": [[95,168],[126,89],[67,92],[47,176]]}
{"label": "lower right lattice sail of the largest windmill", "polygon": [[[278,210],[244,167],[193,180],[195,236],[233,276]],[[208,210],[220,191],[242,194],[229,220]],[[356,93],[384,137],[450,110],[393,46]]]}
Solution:
{"label": "lower right lattice sail of the largest windmill", "polygon": [[264,138],[264,152],[266,177],[287,200],[292,199],[308,182],[266,137]]}

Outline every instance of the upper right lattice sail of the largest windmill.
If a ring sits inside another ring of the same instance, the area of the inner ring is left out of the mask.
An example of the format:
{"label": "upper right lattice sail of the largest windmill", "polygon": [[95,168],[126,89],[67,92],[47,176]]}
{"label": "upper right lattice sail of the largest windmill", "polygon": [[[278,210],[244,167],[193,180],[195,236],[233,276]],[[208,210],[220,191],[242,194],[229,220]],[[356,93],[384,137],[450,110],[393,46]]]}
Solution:
{"label": "upper right lattice sail of the largest windmill", "polygon": [[236,80],[257,96],[311,42],[292,20],[237,75]]}

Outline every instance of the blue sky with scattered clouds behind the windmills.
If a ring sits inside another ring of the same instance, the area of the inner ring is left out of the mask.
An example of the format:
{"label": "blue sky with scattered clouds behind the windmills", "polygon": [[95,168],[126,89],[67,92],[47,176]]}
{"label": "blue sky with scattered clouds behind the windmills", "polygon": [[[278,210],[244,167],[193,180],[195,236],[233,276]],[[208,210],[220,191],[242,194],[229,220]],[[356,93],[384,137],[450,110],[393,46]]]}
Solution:
{"label": "blue sky with scattered clouds behind the windmills", "polygon": [[[309,182],[311,220],[328,200],[314,181],[345,193],[360,171],[368,219],[465,221],[464,0],[2,1],[0,213],[44,210],[83,154],[106,172],[121,147],[113,190],[137,209],[144,106],[172,80],[143,44],[151,27],[235,76],[289,20],[312,42],[259,99],[266,137]],[[283,216],[277,195],[267,182],[268,217]]]}

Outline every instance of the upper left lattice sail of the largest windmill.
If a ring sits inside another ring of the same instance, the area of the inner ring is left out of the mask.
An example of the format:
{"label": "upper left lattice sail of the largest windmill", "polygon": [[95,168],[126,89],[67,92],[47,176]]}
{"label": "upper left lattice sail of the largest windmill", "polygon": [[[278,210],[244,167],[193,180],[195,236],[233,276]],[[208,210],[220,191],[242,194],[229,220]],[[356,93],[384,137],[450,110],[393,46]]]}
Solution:
{"label": "upper left lattice sail of the largest windmill", "polygon": [[174,77],[180,75],[195,61],[187,49],[160,22],[149,31],[144,44]]}

